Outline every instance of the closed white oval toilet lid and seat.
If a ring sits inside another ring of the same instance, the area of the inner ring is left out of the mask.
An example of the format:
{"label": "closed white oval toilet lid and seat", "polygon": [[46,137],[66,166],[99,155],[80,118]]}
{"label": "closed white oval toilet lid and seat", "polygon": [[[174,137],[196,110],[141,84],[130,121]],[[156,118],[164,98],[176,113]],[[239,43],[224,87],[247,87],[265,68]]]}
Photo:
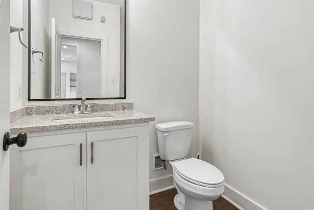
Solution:
{"label": "closed white oval toilet lid and seat", "polygon": [[174,171],[184,180],[204,187],[215,188],[224,184],[224,176],[215,166],[196,158],[174,162]]}

